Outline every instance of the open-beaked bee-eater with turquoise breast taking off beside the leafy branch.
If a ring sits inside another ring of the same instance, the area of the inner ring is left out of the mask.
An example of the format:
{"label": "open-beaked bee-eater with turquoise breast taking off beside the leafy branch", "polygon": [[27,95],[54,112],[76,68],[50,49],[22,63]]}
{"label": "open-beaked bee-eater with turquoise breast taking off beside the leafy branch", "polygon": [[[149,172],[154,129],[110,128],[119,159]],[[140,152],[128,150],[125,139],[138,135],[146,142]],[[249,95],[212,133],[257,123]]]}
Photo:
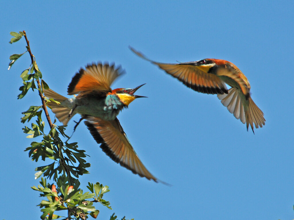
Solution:
{"label": "open-beaked bee-eater with turquoise breast taking off beside the leafy branch", "polygon": [[113,65],[87,65],[85,69],[72,78],[67,89],[69,95],[78,94],[73,98],[66,98],[51,89],[44,89],[48,98],[60,102],[47,103],[56,118],[66,125],[74,114],[80,114],[100,148],[116,163],[126,167],[133,173],[146,177],[148,180],[158,180],[146,169],[116,116],[136,98],[145,97],[134,95],[134,92],[143,85],[134,89],[111,89],[110,85],[124,73],[121,67]]}

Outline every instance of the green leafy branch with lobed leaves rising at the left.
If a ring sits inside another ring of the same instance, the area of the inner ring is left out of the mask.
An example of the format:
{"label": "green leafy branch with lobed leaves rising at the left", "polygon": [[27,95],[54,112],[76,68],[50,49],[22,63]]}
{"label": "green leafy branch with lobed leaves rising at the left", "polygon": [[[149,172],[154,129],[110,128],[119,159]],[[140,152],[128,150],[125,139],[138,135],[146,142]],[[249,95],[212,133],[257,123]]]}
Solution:
{"label": "green leafy branch with lobed leaves rising at the left", "polygon": [[[29,40],[26,32],[19,33],[10,32],[13,36],[9,43],[14,43],[20,40],[23,36],[26,40],[26,51],[21,54],[13,54],[9,57],[11,60],[8,70],[14,62],[26,52],[29,52],[31,64],[25,69],[20,77],[23,80],[23,85],[19,88],[21,93],[18,99],[22,99],[27,92],[38,91],[41,98],[40,106],[30,106],[27,111],[22,112],[24,115],[21,118],[22,123],[28,123],[31,119],[36,119],[36,123],[31,123],[30,126],[24,126],[24,133],[28,134],[27,138],[35,138],[41,136],[41,142],[33,141],[31,146],[25,151],[29,152],[29,157],[38,162],[41,160],[48,161],[45,166],[39,166],[35,170],[35,179],[41,177],[40,185],[33,186],[32,189],[39,191],[40,196],[44,200],[38,205],[41,208],[41,219],[87,219],[89,216],[97,218],[99,210],[93,205],[100,203],[108,209],[112,209],[110,203],[102,199],[103,195],[109,192],[108,186],[103,186],[99,182],[96,184],[88,183],[87,188],[90,192],[83,192],[78,181],[79,176],[87,174],[87,168],[90,163],[87,163],[85,158],[85,150],[78,149],[77,143],[69,143],[70,137],[66,135],[66,126],[57,126],[51,122],[47,111],[47,103],[53,99],[46,99],[43,96],[43,89],[48,89],[49,86],[41,79],[42,73],[36,63],[34,55],[31,53]],[[42,121],[42,115],[46,116],[49,127]],[[55,123],[55,121],[54,121]],[[46,133],[45,130],[50,130]],[[66,139],[66,141],[62,141]],[[51,180],[53,183],[47,183]],[[57,211],[67,210],[68,216],[59,216]],[[116,220],[117,216],[110,217],[111,220]],[[125,217],[122,218],[125,220]]]}

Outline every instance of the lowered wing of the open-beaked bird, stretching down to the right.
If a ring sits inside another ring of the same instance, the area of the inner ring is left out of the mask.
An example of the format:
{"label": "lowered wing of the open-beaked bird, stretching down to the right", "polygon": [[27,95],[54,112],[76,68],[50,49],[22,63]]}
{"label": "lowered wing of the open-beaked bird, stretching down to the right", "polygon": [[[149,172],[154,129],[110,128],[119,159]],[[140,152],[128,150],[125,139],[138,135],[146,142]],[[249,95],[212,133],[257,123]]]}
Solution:
{"label": "lowered wing of the open-beaked bird, stretching down to the right", "polygon": [[139,159],[117,118],[113,121],[104,121],[88,116],[86,119],[85,125],[96,142],[101,143],[100,148],[106,155],[134,174],[158,182]]}

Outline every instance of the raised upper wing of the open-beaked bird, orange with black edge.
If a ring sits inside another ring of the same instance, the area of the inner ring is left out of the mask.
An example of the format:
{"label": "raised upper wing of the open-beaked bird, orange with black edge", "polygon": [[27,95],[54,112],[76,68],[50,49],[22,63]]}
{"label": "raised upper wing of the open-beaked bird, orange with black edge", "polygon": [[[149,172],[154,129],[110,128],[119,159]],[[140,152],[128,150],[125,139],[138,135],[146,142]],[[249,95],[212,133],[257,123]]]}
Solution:
{"label": "raised upper wing of the open-beaked bird, orange with black edge", "polygon": [[69,95],[95,92],[105,96],[108,92],[111,92],[110,85],[113,81],[123,73],[122,67],[116,68],[114,64],[88,64],[85,70],[81,68],[72,78],[67,92]]}

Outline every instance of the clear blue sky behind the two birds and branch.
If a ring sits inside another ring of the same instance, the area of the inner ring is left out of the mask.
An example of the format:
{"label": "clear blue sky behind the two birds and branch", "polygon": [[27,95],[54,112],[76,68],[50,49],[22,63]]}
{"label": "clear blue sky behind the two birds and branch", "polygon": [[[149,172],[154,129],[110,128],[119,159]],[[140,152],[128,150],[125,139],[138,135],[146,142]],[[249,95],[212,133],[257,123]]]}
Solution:
{"label": "clear blue sky behind the two birds and branch", "polygon": [[[127,74],[112,88],[133,88],[118,119],[139,157],[159,179],[148,181],[110,160],[80,124],[72,137],[91,156],[79,180],[108,185],[113,210],[99,219],[293,219],[293,1],[1,1],[1,219],[39,219],[39,193],[21,112],[39,99],[17,100],[26,54],[7,71],[10,31],[27,32],[44,80],[60,94],[75,72],[93,61],[122,65]],[[255,135],[216,95],[186,88],[134,55],[158,62],[217,58],[233,62],[251,84],[266,123]],[[52,114],[51,114],[52,116]],[[44,117],[43,117],[44,118]],[[78,120],[78,116],[74,118]],[[71,132],[74,123],[69,123]],[[103,165],[103,166],[102,166]],[[21,204],[21,205],[20,205]],[[17,208],[15,208],[17,207]],[[17,209],[17,211],[13,211]],[[14,214],[11,214],[13,212]]]}

